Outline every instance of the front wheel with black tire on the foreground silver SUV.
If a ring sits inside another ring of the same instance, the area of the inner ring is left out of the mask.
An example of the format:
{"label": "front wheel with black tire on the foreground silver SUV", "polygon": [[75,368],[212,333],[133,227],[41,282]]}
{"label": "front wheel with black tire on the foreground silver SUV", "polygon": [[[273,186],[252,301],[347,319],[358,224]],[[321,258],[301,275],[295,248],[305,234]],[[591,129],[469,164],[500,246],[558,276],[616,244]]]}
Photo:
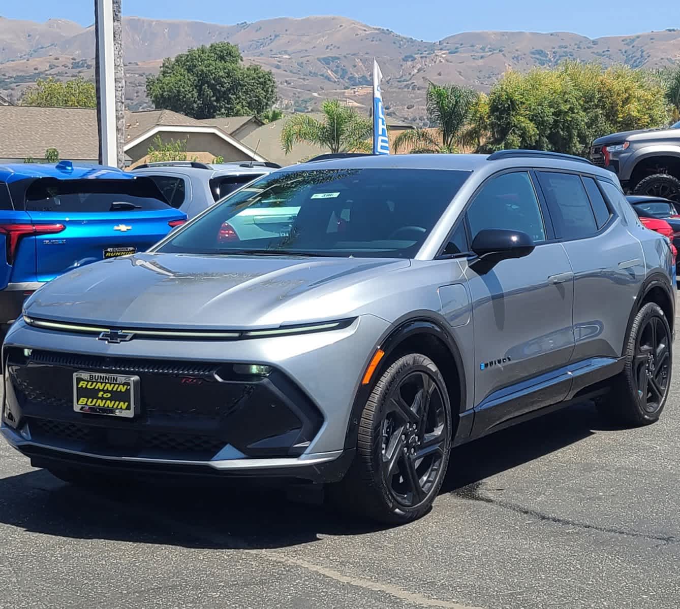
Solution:
{"label": "front wheel with black tire on the foreground silver SUV", "polygon": [[[430,399],[422,408],[425,393]],[[443,482],[451,429],[446,384],[435,363],[417,353],[398,358],[373,387],[354,462],[331,496],[343,509],[381,523],[420,518]]]}

